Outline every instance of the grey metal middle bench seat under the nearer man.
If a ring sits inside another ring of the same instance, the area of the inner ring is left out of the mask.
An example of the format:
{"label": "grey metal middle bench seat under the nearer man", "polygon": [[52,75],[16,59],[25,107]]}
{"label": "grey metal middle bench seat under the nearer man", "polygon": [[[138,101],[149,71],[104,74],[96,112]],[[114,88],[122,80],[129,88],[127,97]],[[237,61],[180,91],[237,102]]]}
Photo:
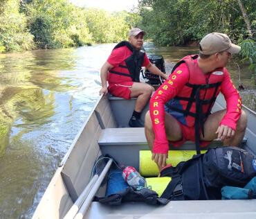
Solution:
{"label": "grey metal middle bench seat under the nearer man", "polygon": [[[246,142],[244,139],[243,143]],[[139,169],[139,151],[149,150],[144,128],[106,128],[98,139],[102,155],[111,155],[118,163],[134,166]],[[221,146],[221,141],[214,140],[210,148]],[[195,150],[194,142],[186,141],[183,146],[170,150]]]}

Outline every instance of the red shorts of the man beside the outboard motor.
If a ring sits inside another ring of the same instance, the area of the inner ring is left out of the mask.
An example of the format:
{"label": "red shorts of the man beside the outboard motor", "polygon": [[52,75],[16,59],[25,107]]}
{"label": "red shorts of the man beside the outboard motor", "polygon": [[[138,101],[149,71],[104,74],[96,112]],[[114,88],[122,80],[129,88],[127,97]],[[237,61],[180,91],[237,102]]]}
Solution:
{"label": "red shorts of the man beside the outboard motor", "polygon": [[109,93],[113,96],[125,98],[127,100],[131,99],[131,86],[134,84],[132,81],[111,83],[109,84]]}

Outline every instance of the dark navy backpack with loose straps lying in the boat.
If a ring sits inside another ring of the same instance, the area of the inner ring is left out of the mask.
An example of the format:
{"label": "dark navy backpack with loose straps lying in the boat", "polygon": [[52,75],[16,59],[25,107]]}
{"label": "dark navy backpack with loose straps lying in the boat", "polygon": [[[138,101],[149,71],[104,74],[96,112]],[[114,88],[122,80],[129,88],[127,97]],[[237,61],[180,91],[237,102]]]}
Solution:
{"label": "dark navy backpack with loose straps lying in the boat", "polygon": [[212,148],[176,167],[164,168],[164,176],[172,181],[161,198],[218,200],[222,186],[245,186],[256,176],[256,158],[237,147]]}

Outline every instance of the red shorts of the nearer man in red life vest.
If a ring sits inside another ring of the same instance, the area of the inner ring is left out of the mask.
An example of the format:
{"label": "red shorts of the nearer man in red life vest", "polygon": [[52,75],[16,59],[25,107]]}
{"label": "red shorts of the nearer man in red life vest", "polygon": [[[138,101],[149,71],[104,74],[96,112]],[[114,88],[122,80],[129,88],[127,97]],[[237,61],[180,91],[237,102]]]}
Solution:
{"label": "red shorts of the nearer man in red life vest", "polygon": [[[185,141],[196,141],[196,134],[194,133],[194,126],[192,127],[188,127],[187,125],[183,125],[182,123],[180,123],[178,120],[177,122],[179,123],[180,127],[181,127],[181,133],[182,133],[182,139],[179,141],[170,141],[172,143],[172,146],[174,147],[179,147],[181,145],[183,145],[183,143]],[[208,144],[211,141],[200,141],[200,147],[201,148],[205,148],[206,146],[208,146]]]}

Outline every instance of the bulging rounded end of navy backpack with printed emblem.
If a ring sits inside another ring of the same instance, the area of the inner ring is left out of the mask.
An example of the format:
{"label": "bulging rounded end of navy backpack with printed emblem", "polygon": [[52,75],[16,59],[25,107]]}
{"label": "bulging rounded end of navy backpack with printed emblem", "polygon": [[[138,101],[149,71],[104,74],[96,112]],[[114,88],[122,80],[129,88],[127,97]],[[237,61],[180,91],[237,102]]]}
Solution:
{"label": "bulging rounded end of navy backpack with printed emblem", "polygon": [[203,156],[207,187],[244,187],[256,175],[256,157],[237,147],[210,149]]}

